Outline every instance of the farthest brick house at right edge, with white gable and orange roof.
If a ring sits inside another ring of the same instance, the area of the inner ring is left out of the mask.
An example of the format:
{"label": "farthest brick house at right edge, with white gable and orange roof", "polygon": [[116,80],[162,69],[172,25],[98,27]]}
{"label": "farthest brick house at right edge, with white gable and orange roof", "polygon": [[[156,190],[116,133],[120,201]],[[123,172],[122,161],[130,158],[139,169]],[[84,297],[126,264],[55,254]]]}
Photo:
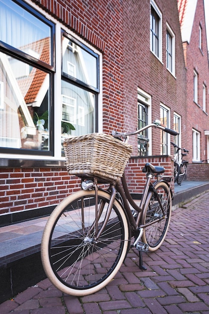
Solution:
{"label": "farthest brick house at right edge, with white gable and orange roof", "polygon": [[[187,118],[185,146],[189,150],[187,159],[189,180],[208,180],[207,168],[201,165],[208,161],[208,82],[209,67],[205,30],[204,2],[178,0],[179,21],[187,72]],[[196,171],[199,170],[197,178]]]}

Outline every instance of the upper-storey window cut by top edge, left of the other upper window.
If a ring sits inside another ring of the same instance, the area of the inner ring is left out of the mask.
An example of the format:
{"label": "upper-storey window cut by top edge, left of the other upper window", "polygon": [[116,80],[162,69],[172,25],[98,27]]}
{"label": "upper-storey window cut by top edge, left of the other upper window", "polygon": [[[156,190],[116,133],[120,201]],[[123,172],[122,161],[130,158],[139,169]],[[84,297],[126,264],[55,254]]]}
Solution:
{"label": "upper-storey window cut by top edge, left of the other upper window", "polygon": [[153,0],[150,2],[150,50],[161,60],[162,14]]}

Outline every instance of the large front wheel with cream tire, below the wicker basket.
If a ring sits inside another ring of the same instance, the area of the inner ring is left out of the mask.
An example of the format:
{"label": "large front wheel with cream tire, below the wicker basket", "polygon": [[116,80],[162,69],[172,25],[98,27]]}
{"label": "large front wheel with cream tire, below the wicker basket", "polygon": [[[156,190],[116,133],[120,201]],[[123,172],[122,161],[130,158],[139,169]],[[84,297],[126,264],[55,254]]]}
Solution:
{"label": "large front wheel with cream tire, below the wicker basket", "polygon": [[[104,221],[109,201],[109,193],[99,190],[98,228]],[[44,270],[55,287],[67,294],[84,296],[106,286],[118,272],[130,245],[127,216],[117,201],[101,236],[93,240],[94,204],[95,191],[70,195],[54,209],[43,233]]]}

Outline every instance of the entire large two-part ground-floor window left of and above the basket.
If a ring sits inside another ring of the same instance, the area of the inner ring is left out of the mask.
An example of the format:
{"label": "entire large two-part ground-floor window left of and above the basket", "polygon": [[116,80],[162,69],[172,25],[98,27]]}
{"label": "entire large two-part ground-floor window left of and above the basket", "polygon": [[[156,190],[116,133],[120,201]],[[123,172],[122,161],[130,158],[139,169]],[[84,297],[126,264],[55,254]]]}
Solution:
{"label": "entire large two-part ground-floor window left of and above the basket", "polygon": [[2,153],[60,158],[64,138],[98,130],[98,94],[98,54],[22,0],[0,2]]}

